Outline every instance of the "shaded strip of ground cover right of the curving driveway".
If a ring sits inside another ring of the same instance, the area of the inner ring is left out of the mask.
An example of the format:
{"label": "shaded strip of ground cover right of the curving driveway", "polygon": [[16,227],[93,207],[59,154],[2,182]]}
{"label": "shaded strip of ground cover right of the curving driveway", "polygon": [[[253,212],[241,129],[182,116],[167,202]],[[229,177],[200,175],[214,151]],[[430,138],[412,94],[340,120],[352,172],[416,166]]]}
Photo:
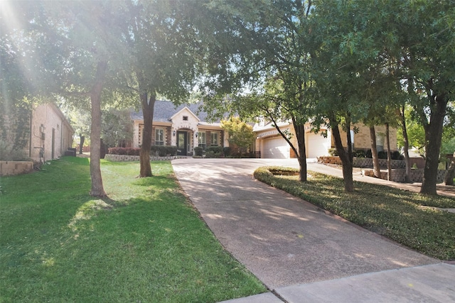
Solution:
{"label": "shaded strip of ground cover right of the curving driveway", "polygon": [[455,199],[430,197],[366,182],[344,191],[343,180],[309,171],[308,182],[298,176],[272,172],[298,172],[287,167],[259,167],[257,180],[283,189],[321,209],[440,260],[455,260],[455,214],[438,209],[455,208]]}

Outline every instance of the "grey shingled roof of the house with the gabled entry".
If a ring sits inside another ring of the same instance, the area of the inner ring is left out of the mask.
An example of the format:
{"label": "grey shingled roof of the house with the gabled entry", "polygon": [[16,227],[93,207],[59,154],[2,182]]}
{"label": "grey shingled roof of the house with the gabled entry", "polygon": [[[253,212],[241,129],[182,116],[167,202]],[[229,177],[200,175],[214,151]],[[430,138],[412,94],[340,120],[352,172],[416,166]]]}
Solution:
{"label": "grey shingled roof of the house with the gabled entry", "polygon": [[[154,106],[154,122],[171,122],[172,116],[177,114],[179,111],[187,107],[200,121],[207,121],[207,113],[200,110],[202,102],[196,104],[181,104],[179,106],[173,105],[171,101],[156,100]],[[132,120],[144,121],[144,114],[142,110],[138,112],[132,112]]]}

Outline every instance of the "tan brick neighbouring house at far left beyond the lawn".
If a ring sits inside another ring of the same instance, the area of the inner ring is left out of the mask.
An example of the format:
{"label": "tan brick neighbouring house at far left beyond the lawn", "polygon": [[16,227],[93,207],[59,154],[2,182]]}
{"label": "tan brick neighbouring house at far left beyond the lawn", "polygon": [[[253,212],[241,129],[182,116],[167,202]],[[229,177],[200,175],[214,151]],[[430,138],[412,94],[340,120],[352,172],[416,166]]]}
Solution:
{"label": "tan brick neighbouring house at far left beyond the lawn", "polygon": [[46,161],[65,155],[73,145],[73,134],[73,127],[58,106],[49,102],[34,107],[31,113],[30,138],[26,147],[28,157],[39,161],[40,148],[43,148]]}

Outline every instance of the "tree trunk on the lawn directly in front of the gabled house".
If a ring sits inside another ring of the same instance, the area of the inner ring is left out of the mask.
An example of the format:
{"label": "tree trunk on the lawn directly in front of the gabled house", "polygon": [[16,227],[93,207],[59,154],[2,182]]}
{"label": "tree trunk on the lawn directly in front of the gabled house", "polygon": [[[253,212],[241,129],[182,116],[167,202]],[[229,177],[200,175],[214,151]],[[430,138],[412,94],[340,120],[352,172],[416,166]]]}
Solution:
{"label": "tree trunk on the lawn directly in front of the gabled house", "polygon": [[151,124],[154,119],[154,106],[156,94],[152,92],[150,98],[147,93],[141,93],[142,113],[144,114],[144,129],[142,131],[142,145],[139,151],[141,169],[139,177],[151,177],[150,149],[151,149]]}

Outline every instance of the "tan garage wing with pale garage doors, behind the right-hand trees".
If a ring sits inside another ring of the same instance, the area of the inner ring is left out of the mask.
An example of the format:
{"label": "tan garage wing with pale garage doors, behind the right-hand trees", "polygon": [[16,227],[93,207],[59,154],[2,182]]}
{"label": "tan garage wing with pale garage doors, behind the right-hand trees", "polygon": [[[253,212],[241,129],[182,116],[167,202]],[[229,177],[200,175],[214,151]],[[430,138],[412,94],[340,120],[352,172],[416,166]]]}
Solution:
{"label": "tan garage wing with pale garage doors, behind the right-hand trees", "polygon": [[[278,124],[281,131],[291,134],[290,141],[295,148],[298,148],[297,139],[294,131],[294,126],[291,123],[282,122]],[[363,124],[355,125],[358,132],[350,131],[353,150],[368,150],[371,148],[370,129]],[[257,133],[257,140],[255,144],[256,151],[260,151],[261,158],[279,158],[288,159],[296,158],[293,150],[290,148],[284,138],[279,135],[277,129],[272,126],[272,123],[267,121],[259,121],[255,124],[253,130]],[[376,130],[376,144],[378,151],[387,150],[387,143],[385,140],[385,126],[375,126]],[[323,136],[323,132],[326,136]],[[341,131],[341,139],[343,145],[347,146],[346,133]],[[397,131],[395,128],[390,128],[390,150],[397,150]],[[328,155],[328,150],[335,148],[335,142],[330,129],[321,128],[319,133],[311,131],[310,123],[305,124],[305,149],[306,158],[318,158],[323,155]]]}

